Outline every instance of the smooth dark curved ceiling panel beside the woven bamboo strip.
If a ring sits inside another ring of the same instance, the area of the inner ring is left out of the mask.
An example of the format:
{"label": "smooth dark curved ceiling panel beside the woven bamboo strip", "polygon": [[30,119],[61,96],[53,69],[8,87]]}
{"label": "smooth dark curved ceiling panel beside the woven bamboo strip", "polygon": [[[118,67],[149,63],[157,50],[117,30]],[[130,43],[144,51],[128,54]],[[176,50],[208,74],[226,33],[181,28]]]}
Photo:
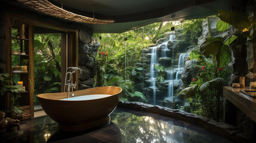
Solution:
{"label": "smooth dark curved ceiling panel beside the woven bamboo strip", "polygon": [[[6,0],[7,1],[7,0]],[[16,0],[9,0],[7,2]],[[72,13],[92,17],[92,2],[86,0],[49,0]],[[84,24],[95,33],[122,33],[147,24],[203,18],[218,10],[232,10],[242,0],[94,0],[95,18],[113,19],[116,23]],[[16,2],[16,5],[17,2]],[[21,5],[20,5],[21,6]],[[65,20],[67,21],[67,20]]]}

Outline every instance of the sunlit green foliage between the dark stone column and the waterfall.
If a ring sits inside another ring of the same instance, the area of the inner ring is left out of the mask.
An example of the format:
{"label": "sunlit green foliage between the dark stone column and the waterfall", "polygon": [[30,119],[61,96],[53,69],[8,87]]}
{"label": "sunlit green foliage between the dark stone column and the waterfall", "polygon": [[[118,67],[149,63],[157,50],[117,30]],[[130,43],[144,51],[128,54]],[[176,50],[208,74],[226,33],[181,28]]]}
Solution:
{"label": "sunlit green foliage between the dark stone column and the waterfall", "polygon": [[[101,35],[101,46],[95,59],[96,76],[94,79],[95,86],[121,87],[123,89],[121,100],[144,102],[146,97],[141,93],[141,88],[137,86],[143,79],[141,73],[143,68],[140,63],[143,35],[137,32],[142,32],[142,29],[127,32],[126,43],[125,33]],[[96,34],[95,37],[97,36],[100,35]],[[126,61],[126,67],[124,61]]]}

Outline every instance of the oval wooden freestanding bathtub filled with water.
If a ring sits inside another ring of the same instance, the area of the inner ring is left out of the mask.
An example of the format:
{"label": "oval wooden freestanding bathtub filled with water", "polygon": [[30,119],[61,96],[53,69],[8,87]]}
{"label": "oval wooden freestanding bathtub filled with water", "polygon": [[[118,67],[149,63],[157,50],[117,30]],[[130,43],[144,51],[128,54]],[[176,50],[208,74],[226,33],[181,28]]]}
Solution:
{"label": "oval wooden freestanding bathtub filled with water", "polygon": [[[45,113],[64,131],[80,131],[110,122],[110,114],[119,102],[122,89],[101,86],[70,92],[39,94],[38,100]],[[75,97],[71,97],[71,94]]]}

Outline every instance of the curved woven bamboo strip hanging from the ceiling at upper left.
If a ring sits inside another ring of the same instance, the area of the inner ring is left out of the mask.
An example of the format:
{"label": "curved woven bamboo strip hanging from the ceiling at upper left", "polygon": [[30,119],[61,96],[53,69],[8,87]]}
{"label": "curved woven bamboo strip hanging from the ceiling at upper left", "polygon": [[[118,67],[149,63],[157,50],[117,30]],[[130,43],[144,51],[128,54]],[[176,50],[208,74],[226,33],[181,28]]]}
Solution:
{"label": "curved woven bamboo strip hanging from the ceiling at upper left", "polygon": [[103,20],[74,14],[51,4],[51,2],[47,0],[18,0],[18,2],[41,13],[52,15],[54,17],[64,18],[66,20],[76,21],[79,23],[109,24],[115,22],[115,20]]}

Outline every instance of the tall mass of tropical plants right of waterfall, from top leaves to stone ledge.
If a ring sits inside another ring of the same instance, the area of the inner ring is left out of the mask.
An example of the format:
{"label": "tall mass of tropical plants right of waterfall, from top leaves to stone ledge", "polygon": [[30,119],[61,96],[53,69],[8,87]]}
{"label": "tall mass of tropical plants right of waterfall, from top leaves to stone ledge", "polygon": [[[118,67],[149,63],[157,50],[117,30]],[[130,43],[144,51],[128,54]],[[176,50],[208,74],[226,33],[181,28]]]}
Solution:
{"label": "tall mass of tropical plants right of waterfall, from top leaves to stone ledge", "polygon": [[[230,24],[237,29],[236,33],[228,36],[226,39],[222,37],[212,38],[211,36],[202,43],[200,51],[194,50],[190,54],[192,60],[198,58],[198,62],[194,67],[201,67],[202,71],[192,79],[188,88],[183,89],[185,97],[195,97],[202,108],[202,115],[210,117],[214,120],[221,120],[223,108],[223,86],[226,85],[224,78],[231,69],[227,68],[230,63],[231,52],[229,45],[236,38],[250,38],[252,21],[248,14],[236,13],[219,10],[218,21],[216,27],[219,31],[226,31]],[[202,65],[203,64],[203,65]]]}

